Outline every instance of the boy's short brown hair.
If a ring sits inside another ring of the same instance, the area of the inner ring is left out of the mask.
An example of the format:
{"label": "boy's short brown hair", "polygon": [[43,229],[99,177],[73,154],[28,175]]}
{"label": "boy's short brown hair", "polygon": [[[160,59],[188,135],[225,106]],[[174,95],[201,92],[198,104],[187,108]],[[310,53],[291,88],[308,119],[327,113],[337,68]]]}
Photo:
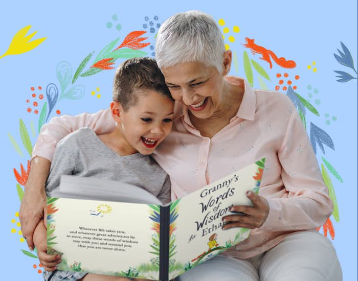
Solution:
{"label": "boy's short brown hair", "polygon": [[131,58],[116,70],[113,82],[113,100],[127,111],[137,103],[136,90],[153,90],[173,100],[155,59]]}

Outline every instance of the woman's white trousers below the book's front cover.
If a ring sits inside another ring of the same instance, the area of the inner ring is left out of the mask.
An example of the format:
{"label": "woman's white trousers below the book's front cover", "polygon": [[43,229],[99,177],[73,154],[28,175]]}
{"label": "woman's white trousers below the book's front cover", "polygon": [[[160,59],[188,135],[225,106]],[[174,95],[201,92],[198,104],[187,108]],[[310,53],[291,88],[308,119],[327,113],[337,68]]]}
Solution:
{"label": "woman's white trousers below the book's front cover", "polygon": [[315,230],[295,232],[247,260],[217,255],[176,281],[341,281],[332,243]]}

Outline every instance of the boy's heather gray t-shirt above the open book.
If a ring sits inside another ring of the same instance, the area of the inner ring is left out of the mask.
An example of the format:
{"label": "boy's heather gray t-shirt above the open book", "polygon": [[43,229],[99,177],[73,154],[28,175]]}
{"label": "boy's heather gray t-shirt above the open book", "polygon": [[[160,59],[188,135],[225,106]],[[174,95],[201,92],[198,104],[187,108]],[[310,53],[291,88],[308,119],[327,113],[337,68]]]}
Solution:
{"label": "boy's heather gray t-shirt above the open book", "polygon": [[170,202],[169,176],[151,156],[140,153],[120,156],[87,127],[57,144],[46,182],[48,196],[59,186],[61,175],[118,180],[140,186],[163,203]]}

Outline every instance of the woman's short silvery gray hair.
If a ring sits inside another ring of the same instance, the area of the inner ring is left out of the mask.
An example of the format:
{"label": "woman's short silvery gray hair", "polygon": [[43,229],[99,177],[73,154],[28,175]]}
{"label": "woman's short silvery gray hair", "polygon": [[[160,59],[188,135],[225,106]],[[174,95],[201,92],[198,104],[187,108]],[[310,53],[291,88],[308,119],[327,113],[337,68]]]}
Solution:
{"label": "woman's short silvery gray hair", "polygon": [[163,22],[156,36],[160,68],[181,62],[202,62],[221,74],[225,45],[215,20],[200,11],[177,13]]}

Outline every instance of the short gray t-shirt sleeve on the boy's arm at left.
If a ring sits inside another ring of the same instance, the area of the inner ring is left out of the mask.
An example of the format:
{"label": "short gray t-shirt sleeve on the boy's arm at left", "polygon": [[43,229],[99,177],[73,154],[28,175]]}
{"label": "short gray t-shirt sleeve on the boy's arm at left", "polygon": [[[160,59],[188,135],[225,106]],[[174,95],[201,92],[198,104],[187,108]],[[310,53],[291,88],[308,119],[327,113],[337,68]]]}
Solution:
{"label": "short gray t-shirt sleeve on the boy's arm at left", "polygon": [[71,144],[71,139],[67,138],[64,142],[58,144],[46,181],[48,195],[51,195],[51,192],[58,188],[61,175],[72,175],[75,172],[74,157],[76,157],[76,152],[75,146]]}

